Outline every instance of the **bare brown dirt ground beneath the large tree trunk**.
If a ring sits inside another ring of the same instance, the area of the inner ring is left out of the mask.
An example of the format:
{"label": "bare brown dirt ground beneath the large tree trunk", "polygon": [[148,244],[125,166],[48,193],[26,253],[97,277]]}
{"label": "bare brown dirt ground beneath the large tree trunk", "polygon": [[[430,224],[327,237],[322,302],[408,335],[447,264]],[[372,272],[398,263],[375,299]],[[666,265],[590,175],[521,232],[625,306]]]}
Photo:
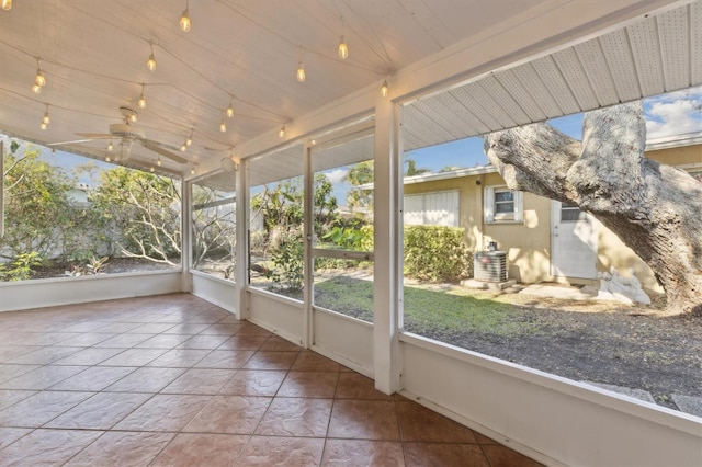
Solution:
{"label": "bare brown dirt ground beneath the large tree trunk", "polygon": [[533,335],[503,338],[452,332],[444,342],[578,381],[649,391],[677,409],[672,394],[702,397],[702,318],[650,306],[501,296],[537,324]]}

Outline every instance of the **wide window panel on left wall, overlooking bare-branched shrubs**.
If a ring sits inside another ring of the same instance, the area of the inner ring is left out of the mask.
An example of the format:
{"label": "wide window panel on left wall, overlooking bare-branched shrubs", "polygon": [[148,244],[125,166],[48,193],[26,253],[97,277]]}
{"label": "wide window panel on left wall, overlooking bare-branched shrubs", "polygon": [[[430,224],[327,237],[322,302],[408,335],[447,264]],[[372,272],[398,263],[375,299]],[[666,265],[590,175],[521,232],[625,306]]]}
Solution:
{"label": "wide window panel on left wall, overlooking bare-branched shrubs", "polygon": [[0,280],[180,266],[180,181],[4,139]]}

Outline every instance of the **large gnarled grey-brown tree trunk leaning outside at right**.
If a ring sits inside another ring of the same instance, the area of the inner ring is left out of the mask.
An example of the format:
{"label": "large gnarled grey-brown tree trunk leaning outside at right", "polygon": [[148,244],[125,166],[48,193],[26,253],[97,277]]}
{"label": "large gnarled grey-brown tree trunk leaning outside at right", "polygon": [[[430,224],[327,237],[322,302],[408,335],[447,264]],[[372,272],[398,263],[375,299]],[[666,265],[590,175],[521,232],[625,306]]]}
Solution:
{"label": "large gnarled grey-brown tree trunk leaning outside at right", "polygon": [[645,145],[641,102],[586,113],[581,143],[546,123],[485,137],[510,189],[592,214],[650,266],[669,311],[702,316],[702,183]]}

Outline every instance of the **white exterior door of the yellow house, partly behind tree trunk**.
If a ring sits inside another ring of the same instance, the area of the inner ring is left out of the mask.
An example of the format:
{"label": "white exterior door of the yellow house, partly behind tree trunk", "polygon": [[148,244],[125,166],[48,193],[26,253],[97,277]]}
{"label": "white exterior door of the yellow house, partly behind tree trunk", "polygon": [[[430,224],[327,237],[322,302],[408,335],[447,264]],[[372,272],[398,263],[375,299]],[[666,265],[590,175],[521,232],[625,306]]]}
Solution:
{"label": "white exterior door of the yellow house, partly behind tree trunk", "polygon": [[595,278],[597,276],[597,227],[595,219],[577,206],[551,202],[551,274]]}

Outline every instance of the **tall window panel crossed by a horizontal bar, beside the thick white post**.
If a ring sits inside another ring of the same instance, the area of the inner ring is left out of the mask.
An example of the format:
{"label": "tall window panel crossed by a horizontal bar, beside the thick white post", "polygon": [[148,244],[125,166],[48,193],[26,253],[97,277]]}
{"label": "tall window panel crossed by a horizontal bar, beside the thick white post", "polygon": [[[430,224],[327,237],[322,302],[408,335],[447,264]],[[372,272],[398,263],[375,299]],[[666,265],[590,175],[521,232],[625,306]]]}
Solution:
{"label": "tall window panel crossed by a horizontal bar, beside the thick white post", "polygon": [[[353,135],[312,156],[314,305],[372,322],[373,136]],[[360,251],[369,252],[365,259]]]}

